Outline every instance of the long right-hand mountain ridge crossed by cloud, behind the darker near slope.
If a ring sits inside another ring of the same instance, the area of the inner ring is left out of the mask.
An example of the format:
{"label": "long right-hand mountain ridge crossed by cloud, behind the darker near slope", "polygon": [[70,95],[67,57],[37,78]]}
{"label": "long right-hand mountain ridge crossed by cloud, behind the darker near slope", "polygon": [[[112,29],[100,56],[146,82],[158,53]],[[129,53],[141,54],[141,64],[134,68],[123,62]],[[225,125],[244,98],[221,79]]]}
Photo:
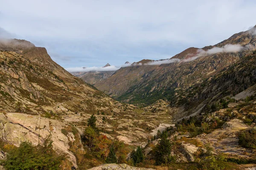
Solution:
{"label": "long right-hand mountain ridge crossed by cloud, behind the darker near slope", "polygon": [[122,102],[150,105],[158,99],[166,99],[182,106],[177,96],[223,73],[256,49],[255,29],[234,34],[216,45],[188,48],[172,57],[178,62],[148,65],[154,61],[143,59],[132,67],[120,68],[95,87]]}

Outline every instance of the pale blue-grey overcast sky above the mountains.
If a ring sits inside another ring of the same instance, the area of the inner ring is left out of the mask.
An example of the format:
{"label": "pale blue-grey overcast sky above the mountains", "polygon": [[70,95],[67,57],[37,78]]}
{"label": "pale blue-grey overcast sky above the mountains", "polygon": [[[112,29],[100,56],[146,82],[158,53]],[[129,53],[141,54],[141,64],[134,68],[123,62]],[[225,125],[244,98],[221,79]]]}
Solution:
{"label": "pale blue-grey overcast sky above the mountains", "polygon": [[255,0],[0,0],[0,33],[68,71],[168,59],[256,25]]}

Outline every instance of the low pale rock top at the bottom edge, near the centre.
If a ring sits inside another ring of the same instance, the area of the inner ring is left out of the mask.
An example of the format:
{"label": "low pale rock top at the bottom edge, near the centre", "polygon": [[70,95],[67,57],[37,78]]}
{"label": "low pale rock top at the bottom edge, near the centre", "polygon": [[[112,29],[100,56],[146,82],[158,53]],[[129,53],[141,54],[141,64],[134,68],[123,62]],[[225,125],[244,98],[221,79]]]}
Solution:
{"label": "low pale rock top at the bottom edge, near the centre", "polygon": [[89,170],[154,170],[151,168],[131,167],[127,164],[103,164]]}

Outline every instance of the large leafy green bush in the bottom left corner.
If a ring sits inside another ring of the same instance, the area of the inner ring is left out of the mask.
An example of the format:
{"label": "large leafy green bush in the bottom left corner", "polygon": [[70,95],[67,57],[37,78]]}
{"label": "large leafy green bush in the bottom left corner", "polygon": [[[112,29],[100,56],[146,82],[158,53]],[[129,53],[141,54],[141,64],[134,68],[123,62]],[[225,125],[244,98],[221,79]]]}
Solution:
{"label": "large leafy green bush in the bottom left corner", "polygon": [[3,166],[6,170],[56,170],[59,169],[64,156],[58,156],[52,150],[52,142],[46,140],[44,146],[33,146],[32,143],[22,142],[20,147],[11,150]]}

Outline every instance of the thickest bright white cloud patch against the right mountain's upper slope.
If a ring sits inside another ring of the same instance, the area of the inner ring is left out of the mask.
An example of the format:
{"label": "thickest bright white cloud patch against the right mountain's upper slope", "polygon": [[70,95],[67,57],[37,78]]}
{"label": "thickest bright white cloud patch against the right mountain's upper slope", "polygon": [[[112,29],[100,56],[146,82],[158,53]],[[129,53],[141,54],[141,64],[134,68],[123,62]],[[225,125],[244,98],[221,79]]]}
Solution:
{"label": "thickest bright white cloud patch against the right mountain's upper slope", "polygon": [[230,52],[239,52],[243,50],[244,47],[239,44],[226,44],[224,47],[213,47],[207,51],[207,54],[216,54],[216,53],[230,53]]}

